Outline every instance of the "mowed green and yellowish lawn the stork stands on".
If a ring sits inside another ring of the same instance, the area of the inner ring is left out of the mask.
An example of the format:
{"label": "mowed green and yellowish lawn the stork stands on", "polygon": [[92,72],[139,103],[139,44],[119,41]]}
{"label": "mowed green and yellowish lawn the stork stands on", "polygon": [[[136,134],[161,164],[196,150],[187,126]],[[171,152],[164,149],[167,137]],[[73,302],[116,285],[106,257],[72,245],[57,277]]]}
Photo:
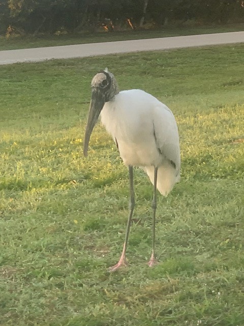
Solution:
{"label": "mowed green and yellowish lawn the stork stands on", "polygon": [[[0,67],[0,325],[244,324],[244,44]],[[158,196],[100,126],[82,155],[90,80],[108,67],[175,114],[181,181]]]}

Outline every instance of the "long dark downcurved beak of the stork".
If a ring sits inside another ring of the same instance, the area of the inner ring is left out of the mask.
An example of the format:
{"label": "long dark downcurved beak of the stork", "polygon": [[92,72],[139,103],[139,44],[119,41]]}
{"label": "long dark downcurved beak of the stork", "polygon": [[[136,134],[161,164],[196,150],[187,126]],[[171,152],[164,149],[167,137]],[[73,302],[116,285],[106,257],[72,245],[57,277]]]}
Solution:
{"label": "long dark downcurved beak of the stork", "polygon": [[98,121],[100,112],[102,111],[103,105],[105,103],[105,94],[103,90],[98,87],[92,89],[92,99],[90,100],[90,107],[88,113],[88,120],[85,129],[85,139],[84,139],[84,156],[87,156],[88,145],[90,140],[90,135],[92,134],[93,128]]}

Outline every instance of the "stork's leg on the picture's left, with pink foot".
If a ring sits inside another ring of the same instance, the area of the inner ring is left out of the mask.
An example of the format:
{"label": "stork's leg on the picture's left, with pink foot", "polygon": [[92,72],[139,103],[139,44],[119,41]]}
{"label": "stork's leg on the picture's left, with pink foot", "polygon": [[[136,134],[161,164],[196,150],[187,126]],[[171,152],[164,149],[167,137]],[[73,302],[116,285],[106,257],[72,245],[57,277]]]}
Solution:
{"label": "stork's leg on the picture's left, with pink foot", "polygon": [[120,256],[118,263],[116,265],[110,267],[109,271],[114,271],[121,266],[127,266],[126,248],[127,248],[128,238],[129,238],[131,219],[132,219],[133,210],[135,207],[135,194],[134,194],[134,185],[133,185],[133,167],[132,166],[129,166],[129,178],[130,178],[130,203],[129,203],[130,212],[129,212],[129,217],[128,217],[128,221],[127,221],[126,238],[125,238],[125,242],[124,242],[123,251],[122,251],[122,254]]}

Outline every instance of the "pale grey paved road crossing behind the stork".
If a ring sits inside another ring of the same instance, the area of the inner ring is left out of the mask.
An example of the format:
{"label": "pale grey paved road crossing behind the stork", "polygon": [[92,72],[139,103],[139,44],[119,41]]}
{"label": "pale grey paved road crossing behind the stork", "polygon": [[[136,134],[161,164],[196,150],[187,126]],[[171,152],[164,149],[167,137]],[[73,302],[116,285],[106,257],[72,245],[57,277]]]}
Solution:
{"label": "pale grey paved road crossing behind the stork", "polygon": [[0,65],[244,42],[244,32],[176,36],[0,51]]}

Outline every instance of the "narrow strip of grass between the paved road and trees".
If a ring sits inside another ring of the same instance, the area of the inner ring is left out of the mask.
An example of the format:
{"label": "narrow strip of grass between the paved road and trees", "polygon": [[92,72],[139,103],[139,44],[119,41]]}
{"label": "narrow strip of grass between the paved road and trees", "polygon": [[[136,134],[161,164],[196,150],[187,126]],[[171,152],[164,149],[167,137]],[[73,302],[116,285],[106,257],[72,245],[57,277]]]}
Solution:
{"label": "narrow strip of grass between the paved road and trees", "polygon": [[0,37],[0,50],[12,50],[21,48],[33,48],[42,46],[58,46],[83,43],[97,43],[108,41],[124,41],[135,39],[148,39],[157,37],[170,37],[182,35],[211,34],[243,31],[244,24],[226,24],[216,26],[166,26],[161,30],[141,31],[129,30],[115,33],[81,33],[74,35],[51,35],[51,36],[10,36],[9,38]]}

